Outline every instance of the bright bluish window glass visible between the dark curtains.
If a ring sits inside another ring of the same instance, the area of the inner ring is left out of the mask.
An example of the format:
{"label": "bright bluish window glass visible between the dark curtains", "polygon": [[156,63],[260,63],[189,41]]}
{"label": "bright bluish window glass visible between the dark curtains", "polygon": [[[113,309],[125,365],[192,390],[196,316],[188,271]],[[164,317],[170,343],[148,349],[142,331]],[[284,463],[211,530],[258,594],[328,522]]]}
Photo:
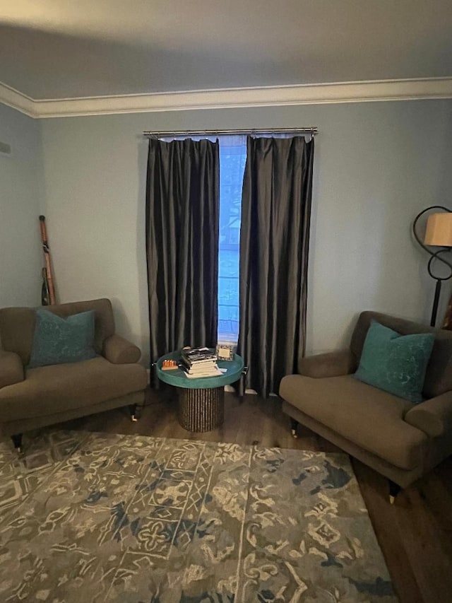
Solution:
{"label": "bright bluish window glass visible between the dark curtains", "polygon": [[218,257],[218,340],[239,334],[239,241],[246,161],[243,136],[220,140],[220,252]]}

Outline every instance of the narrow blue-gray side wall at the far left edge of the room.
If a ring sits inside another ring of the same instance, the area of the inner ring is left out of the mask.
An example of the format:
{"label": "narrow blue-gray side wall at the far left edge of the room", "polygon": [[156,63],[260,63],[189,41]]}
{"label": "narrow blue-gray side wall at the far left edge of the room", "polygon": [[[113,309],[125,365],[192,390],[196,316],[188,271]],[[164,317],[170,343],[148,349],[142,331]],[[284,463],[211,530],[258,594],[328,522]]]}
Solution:
{"label": "narrow blue-gray side wall at the far left edge of the room", "polygon": [[0,104],[0,308],[40,303],[42,211],[40,122]]}

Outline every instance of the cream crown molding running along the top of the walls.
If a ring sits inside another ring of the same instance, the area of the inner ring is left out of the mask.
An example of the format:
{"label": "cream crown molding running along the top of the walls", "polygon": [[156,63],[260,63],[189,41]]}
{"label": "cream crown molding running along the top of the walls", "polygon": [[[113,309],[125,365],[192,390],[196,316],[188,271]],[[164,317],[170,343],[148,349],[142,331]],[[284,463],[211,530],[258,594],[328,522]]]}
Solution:
{"label": "cream crown molding running along the top of the walls", "polygon": [[452,78],[321,83],[174,93],[35,100],[0,83],[0,103],[37,119],[232,107],[368,103],[452,98]]}

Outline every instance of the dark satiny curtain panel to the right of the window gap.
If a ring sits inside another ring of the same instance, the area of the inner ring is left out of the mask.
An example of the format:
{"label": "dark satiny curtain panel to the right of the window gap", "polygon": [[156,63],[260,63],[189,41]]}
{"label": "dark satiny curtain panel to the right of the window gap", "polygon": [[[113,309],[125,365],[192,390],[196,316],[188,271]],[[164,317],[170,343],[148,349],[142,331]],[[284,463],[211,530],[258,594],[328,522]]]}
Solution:
{"label": "dark satiny curtain panel to the right of the window gap", "polygon": [[237,351],[263,397],[304,355],[313,159],[314,139],[247,141]]}

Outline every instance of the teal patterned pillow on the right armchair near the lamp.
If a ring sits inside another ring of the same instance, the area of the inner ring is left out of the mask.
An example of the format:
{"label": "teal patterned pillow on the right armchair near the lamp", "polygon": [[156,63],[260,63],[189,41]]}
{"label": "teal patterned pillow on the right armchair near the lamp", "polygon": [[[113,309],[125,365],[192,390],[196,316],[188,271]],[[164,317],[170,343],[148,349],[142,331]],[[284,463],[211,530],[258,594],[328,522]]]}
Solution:
{"label": "teal patterned pillow on the right armchair near the lamp", "polygon": [[422,402],[433,344],[433,333],[400,335],[372,321],[355,377],[410,402]]}

